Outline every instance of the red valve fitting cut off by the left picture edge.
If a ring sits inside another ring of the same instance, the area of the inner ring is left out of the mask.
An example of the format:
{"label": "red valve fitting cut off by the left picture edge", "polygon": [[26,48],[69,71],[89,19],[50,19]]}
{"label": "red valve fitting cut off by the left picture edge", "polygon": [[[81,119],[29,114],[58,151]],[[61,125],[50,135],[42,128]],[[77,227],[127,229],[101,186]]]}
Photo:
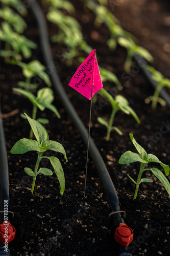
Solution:
{"label": "red valve fitting cut off by the left picture edge", "polygon": [[0,225],[0,241],[2,243],[9,243],[15,237],[15,228],[9,221],[4,221]]}

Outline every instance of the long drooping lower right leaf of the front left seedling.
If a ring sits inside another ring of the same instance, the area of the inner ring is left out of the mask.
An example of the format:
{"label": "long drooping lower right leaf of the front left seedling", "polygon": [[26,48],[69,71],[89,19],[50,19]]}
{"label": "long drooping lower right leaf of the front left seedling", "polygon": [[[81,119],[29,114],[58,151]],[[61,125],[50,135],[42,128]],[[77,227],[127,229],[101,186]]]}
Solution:
{"label": "long drooping lower right leaf of the front left seedling", "polygon": [[50,162],[53,165],[55,173],[58,177],[60,183],[60,194],[63,195],[65,189],[65,178],[60,160],[57,157],[48,157],[48,159],[50,159]]}

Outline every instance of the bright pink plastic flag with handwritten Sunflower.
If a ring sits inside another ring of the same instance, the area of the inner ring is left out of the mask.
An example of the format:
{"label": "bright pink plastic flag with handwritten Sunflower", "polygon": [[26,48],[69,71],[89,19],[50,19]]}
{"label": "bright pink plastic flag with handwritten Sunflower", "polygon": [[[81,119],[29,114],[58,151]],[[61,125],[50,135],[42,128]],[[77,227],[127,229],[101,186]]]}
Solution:
{"label": "bright pink plastic flag with handwritten Sunflower", "polygon": [[103,88],[95,49],[80,65],[68,85],[89,100],[91,100],[91,90],[93,97],[96,92]]}

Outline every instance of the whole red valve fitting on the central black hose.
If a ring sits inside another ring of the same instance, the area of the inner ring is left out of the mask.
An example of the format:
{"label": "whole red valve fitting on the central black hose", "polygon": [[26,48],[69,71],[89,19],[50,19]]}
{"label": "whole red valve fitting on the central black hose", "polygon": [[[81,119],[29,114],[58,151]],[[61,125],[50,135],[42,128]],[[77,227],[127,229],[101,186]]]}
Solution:
{"label": "whole red valve fitting on the central black hose", "polygon": [[120,223],[114,233],[115,241],[122,245],[128,246],[133,240],[133,230],[128,227],[125,223]]}

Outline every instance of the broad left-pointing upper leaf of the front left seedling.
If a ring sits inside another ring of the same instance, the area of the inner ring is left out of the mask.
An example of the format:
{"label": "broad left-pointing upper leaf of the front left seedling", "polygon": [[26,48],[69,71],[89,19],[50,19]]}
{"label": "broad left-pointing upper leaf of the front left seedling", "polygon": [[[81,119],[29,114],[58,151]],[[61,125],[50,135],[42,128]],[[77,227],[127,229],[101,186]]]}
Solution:
{"label": "broad left-pointing upper leaf of the front left seedling", "polygon": [[11,148],[11,154],[25,154],[29,151],[44,152],[36,140],[20,139]]}

